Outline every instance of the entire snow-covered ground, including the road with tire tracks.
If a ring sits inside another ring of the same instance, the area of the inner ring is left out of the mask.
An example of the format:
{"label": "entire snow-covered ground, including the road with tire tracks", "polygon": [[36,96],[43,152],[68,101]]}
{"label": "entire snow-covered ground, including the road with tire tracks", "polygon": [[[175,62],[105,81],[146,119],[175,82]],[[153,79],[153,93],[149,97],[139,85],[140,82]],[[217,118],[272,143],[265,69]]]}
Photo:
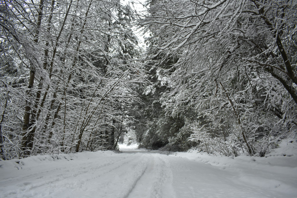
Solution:
{"label": "entire snow-covered ground, including the road with tire tracks", "polygon": [[297,142],[280,146],[267,158],[121,145],[123,153],[0,161],[0,197],[297,197]]}

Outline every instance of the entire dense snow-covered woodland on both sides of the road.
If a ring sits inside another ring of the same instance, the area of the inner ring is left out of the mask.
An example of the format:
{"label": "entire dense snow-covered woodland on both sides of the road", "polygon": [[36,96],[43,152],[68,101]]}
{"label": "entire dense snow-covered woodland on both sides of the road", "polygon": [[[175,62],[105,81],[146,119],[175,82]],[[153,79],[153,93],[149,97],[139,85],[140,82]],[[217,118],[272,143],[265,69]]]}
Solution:
{"label": "entire dense snow-covered woodland on both sides of the road", "polygon": [[[1,159],[265,156],[297,135],[297,1],[0,1]],[[135,32],[145,35],[140,48]]]}

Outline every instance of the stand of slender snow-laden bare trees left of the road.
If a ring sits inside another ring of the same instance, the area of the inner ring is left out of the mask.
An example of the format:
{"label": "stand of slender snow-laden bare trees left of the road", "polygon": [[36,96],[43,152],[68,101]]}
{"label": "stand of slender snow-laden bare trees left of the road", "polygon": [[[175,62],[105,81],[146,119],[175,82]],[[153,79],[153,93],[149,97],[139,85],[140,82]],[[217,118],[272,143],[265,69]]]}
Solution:
{"label": "stand of slender snow-laden bare trees left of the road", "polygon": [[0,6],[1,156],[114,149],[141,78],[131,8],[118,0]]}

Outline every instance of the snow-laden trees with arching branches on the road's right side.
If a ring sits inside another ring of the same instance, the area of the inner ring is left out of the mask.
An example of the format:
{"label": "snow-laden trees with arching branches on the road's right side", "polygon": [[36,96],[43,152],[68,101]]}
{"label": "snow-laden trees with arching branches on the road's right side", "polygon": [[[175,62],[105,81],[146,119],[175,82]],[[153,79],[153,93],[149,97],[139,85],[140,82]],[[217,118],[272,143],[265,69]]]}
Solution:
{"label": "snow-laden trees with arching branches on the road's right side", "polygon": [[232,137],[250,155],[263,156],[271,137],[296,134],[294,1],[176,0],[148,6],[139,25],[157,40],[151,58],[181,57],[162,72],[170,87],[161,98],[168,113],[194,105],[192,122],[212,138]]}

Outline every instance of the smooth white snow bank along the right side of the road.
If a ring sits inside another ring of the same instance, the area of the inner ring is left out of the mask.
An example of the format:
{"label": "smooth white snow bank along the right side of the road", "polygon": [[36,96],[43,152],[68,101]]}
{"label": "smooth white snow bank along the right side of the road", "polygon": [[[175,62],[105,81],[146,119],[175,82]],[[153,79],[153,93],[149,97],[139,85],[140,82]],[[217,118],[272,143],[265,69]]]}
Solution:
{"label": "smooth white snow bank along the right side of the road", "polygon": [[197,153],[176,152],[173,155],[210,164],[218,169],[237,172],[242,183],[274,191],[296,193],[297,186],[297,140],[285,139],[266,157],[214,156]]}

